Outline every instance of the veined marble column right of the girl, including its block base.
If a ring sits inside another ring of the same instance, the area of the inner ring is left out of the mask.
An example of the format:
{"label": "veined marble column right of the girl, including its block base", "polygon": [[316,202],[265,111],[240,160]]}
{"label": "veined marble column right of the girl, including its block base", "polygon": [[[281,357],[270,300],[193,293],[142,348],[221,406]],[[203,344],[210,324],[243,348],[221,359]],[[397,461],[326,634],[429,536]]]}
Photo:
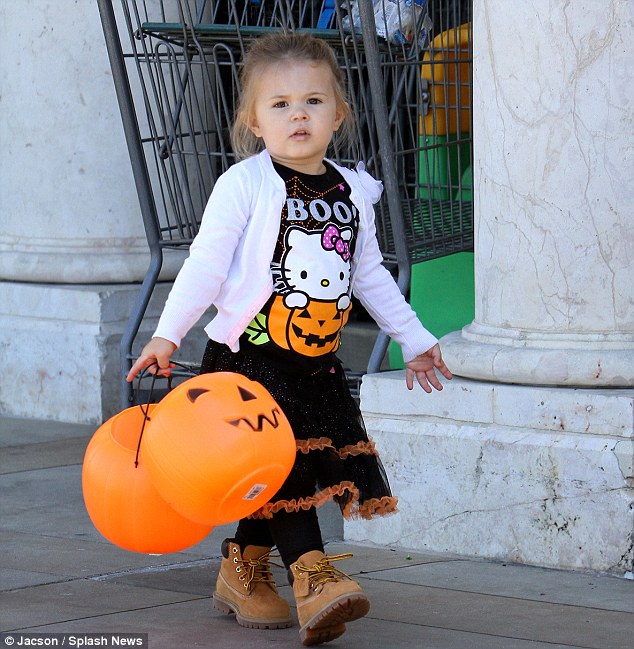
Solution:
{"label": "veined marble column right of the girl, including its block base", "polygon": [[400,513],[347,539],[631,577],[633,31],[628,0],[474,1],[475,320],[441,393],[364,380]]}

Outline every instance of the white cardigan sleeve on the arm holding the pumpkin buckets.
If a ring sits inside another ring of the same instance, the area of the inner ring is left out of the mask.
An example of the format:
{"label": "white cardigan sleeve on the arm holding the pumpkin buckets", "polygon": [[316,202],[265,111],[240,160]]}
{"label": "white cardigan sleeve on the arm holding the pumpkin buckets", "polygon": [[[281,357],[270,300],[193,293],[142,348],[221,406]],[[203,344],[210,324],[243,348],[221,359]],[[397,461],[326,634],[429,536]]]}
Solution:
{"label": "white cardigan sleeve on the arm holding the pumpkin buckets", "polygon": [[234,165],[216,181],[200,230],[174,281],[154,337],[180,346],[218,297],[248,221],[248,179],[240,174],[239,165]]}

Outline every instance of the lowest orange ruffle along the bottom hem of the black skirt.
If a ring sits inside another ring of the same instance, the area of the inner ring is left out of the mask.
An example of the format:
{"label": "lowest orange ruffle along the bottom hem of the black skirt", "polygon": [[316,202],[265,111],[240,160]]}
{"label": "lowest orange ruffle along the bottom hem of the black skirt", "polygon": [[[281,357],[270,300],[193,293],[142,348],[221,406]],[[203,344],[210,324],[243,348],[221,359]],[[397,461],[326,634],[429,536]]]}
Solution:
{"label": "lowest orange ruffle along the bottom hem of the black skirt", "polygon": [[383,496],[382,498],[371,498],[363,504],[359,504],[359,490],[352,482],[340,482],[338,485],[327,487],[314,496],[308,498],[297,498],[293,500],[277,500],[274,503],[267,503],[249,518],[272,518],[273,514],[279,511],[297,512],[307,510],[311,507],[321,507],[336,496],[343,496],[348,493],[350,498],[344,506],[342,514],[347,520],[363,518],[370,520],[375,516],[386,516],[397,511],[398,499],[394,496]]}

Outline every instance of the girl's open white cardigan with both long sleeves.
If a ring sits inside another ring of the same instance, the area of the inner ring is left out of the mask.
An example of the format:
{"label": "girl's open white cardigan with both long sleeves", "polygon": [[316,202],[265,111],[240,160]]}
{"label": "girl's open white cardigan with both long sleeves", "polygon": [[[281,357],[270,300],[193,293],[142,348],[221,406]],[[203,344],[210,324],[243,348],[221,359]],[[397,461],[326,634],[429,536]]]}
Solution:
{"label": "girl's open white cardigan with both long sleeves", "polygon": [[[410,361],[438,340],[418,321],[383,266],[372,207],[383,186],[362,163],[356,170],[331,164],[350,185],[350,200],[360,214],[352,291],[379,327],[401,345],[405,361]],[[179,346],[213,304],[218,313],[205,327],[207,335],[234,352],[239,349],[238,339],[273,292],[270,264],[285,201],[284,181],[266,150],[231,166],[218,178],[155,337]]]}

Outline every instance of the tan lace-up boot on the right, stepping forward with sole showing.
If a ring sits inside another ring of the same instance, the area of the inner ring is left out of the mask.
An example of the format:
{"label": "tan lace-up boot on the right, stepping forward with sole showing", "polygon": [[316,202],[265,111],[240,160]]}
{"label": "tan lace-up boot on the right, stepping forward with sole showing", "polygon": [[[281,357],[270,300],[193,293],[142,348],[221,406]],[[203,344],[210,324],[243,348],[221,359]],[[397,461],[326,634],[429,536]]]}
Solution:
{"label": "tan lace-up boot on the right, stepping forward with sole showing", "polygon": [[357,620],[370,610],[361,586],[331,565],[332,561],[351,556],[328,557],[315,550],[303,554],[291,565],[299,637],[304,645],[338,638],[345,632],[346,622]]}

